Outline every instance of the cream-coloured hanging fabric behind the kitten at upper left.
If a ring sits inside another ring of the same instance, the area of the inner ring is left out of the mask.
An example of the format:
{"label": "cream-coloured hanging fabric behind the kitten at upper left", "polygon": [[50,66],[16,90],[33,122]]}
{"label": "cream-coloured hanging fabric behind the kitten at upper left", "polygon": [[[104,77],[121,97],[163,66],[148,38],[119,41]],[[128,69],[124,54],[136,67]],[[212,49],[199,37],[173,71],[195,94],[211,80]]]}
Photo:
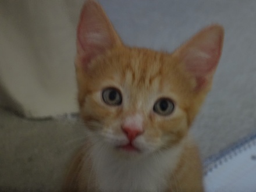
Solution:
{"label": "cream-coloured hanging fabric behind the kitten at upper left", "polygon": [[28,118],[76,112],[76,23],[83,1],[0,1],[0,105]]}

